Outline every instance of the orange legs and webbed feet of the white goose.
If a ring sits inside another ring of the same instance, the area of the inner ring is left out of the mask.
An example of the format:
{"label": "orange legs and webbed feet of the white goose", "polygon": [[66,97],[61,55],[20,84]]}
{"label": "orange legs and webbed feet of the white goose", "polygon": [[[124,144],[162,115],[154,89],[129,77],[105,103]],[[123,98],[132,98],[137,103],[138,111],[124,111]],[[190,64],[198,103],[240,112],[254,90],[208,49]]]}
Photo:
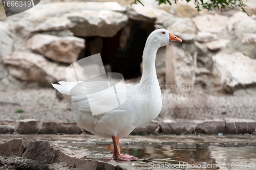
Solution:
{"label": "orange legs and webbed feet of the white goose", "polygon": [[120,154],[119,138],[116,137],[116,136],[112,136],[112,139],[113,139],[113,144],[114,144],[114,152],[112,151],[111,153],[114,153],[113,157],[116,160],[121,160],[121,161],[135,161],[135,160],[138,160],[133,156]]}

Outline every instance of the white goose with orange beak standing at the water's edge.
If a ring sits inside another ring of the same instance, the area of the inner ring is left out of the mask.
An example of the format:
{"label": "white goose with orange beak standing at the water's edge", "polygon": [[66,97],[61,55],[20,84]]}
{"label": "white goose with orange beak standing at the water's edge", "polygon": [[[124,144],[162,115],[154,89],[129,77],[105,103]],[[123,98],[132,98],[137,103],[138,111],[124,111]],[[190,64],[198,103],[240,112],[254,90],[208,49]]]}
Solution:
{"label": "white goose with orange beak standing at the water's edge", "polygon": [[[128,136],[136,127],[150,123],[162,108],[161,91],[156,75],[155,59],[159,47],[182,40],[167,30],[153,31],[147,38],[143,51],[143,74],[139,84],[125,84],[127,100],[119,107],[93,116],[87,96],[70,95],[67,82],[52,84],[70,104],[74,119],[84,128],[101,137],[111,138],[114,143],[114,158],[122,161],[137,160],[133,156],[121,155],[119,138]],[[85,82],[79,83],[84,91],[90,91]],[[94,87],[98,88],[98,87]],[[108,101],[108,94],[102,98]],[[99,106],[100,107],[100,106]]]}

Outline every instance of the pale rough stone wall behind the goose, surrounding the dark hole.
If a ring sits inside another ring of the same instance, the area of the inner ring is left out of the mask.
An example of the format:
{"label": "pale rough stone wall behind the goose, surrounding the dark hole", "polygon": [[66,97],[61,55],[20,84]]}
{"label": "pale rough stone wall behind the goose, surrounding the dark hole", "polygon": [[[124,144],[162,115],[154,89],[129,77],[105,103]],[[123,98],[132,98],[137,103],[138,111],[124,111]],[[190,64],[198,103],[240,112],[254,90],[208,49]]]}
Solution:
{"label": "pale rough stone wall behind the goose, surrounding the dark hole", "polygon": [[[143,22],[147,33],[152,31],[148,26],[154,25],[155,29],[167,29],[183,40],[161,48],[157,54],[161,58],[156,66],[162,84],[199,85],[209,92],[229,93],[255,86],[256,20],[245,13],[205,10],[198,13],[193,4],[184,2],[156,6],[144,1],[144,7],[120,4],[42,1],[28,11],[2,17],[0,89],[45,87],[65,80],[65,68],[80,53],[102,53],[97,37],[120,34],[116,41],[124,48],[131,36],[131,20]],[[250,5],[248,11],[255,12],[255,6]],[[3,11],[0,13],[2,16]],[[88,52],[84,52],[84,37],[96,38],[89,43]],[[112,70],[118,71],[114,65]],[[125,69],[138,67],[137,63],[136,67]]]}

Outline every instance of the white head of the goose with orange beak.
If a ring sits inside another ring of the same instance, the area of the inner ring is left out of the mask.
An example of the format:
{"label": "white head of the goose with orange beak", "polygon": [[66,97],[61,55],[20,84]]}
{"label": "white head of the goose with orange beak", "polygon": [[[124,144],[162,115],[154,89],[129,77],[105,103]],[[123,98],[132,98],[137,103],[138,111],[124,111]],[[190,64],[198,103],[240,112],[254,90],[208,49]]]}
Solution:
{"label": "white head of the goose with orange beak", "polygon": [[150,36],[148,36],[148,40],[150,40],[159,47],[165,46],[172,42],[182,42],[182,39],[178,38],[177,36],[168,32],[165,29],[158,29],[153,31]]}

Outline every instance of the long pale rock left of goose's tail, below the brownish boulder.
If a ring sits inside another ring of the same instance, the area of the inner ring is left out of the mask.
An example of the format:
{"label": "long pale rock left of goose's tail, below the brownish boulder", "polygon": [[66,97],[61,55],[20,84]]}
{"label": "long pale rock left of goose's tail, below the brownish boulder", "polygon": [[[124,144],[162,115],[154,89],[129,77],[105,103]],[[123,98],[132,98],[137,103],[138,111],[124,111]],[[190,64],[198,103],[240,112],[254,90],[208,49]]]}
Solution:
{"label": "long pale rock left of goose's tail, below the brownish boulder", "polygon": [[44,57],[25,52],[14,52],[2,59],[9,74],[19,80],[37,82],[40,86],[66,80],[65,66],[49,62]]}

